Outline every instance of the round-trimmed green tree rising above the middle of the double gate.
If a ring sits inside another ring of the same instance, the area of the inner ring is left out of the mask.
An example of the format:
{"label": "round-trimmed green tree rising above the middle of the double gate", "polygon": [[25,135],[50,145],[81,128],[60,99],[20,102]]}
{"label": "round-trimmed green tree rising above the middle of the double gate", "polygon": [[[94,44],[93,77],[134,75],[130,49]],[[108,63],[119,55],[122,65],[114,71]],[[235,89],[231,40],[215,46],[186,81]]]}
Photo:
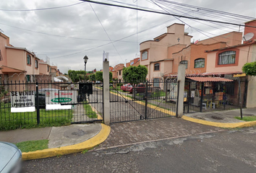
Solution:
{"label": "round-trimmed green tree rising above the middle of the double gate", "polygon": [[129,66],[123,68],[123,79],[131,84],[138,81],[145,81],[148,74],[148,68],[146,66]]}

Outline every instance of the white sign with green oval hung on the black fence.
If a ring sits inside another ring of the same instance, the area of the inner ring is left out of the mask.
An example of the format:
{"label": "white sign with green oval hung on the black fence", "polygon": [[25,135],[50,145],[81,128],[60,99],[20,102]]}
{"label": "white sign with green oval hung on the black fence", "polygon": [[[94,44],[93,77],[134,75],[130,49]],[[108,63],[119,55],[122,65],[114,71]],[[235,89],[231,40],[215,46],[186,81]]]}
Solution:
{"label": "white sign with green oval hung on the black fence", "polygon": [[[46,110],[70,110],[77,103],[77,90],[53,90],[46,92]],[[61,105],[64,104],[64,105]]]}

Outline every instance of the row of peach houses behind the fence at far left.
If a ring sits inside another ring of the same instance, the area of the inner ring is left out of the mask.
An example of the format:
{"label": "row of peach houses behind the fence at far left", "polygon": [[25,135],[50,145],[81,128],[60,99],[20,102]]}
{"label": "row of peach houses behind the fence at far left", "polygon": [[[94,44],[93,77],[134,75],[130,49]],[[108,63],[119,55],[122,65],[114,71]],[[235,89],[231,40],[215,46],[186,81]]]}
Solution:
{"label": "row of peach houses behind the fence at far left", "polygon": [[9,43],[9,37],[0,32],[0,84],[11,81],[43,81],[61,74],[57,66],[40,60],[26,48]]}

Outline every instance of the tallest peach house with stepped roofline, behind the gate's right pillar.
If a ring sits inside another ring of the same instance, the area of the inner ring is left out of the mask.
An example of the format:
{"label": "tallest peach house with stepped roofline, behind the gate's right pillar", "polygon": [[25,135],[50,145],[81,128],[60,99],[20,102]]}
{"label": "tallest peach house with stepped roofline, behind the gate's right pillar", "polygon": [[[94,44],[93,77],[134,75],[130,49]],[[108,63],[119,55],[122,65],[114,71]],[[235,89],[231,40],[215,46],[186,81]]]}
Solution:
{"label": "tallest peach house with stepped roofline, behind the gate's right pillar", "polygon": [[140,65],[148,68],[148,80],[158,81],[165,74],[172,72],[172,53],[190,45],[192,36],[184,32],[184,25],[177,24],[167,27],[167,32],[140,43]]}

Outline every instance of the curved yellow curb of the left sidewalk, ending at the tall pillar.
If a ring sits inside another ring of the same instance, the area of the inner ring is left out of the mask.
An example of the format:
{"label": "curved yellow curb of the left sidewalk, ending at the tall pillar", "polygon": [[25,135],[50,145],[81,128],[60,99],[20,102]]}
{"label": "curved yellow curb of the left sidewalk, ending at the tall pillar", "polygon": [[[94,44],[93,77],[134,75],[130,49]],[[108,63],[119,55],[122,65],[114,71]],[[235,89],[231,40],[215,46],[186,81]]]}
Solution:
{"label": "curved yellow curb of the left sidewalk, ending at the tall pillar", "polygon": [[52,156],[59,156],[65,154],[74,154],[81,151],[88,150],[102,143],[108,138],[110,133],[110,126],[101,124],[101,131],[93,138],[88,139],[88,141],[84,141],[82,143],[77,143],[72,146],[62,146],[59,148],[48,148],[40,151],[33,151],[22,153],[22,160],[31,160],[31,159],[43,159]]}

